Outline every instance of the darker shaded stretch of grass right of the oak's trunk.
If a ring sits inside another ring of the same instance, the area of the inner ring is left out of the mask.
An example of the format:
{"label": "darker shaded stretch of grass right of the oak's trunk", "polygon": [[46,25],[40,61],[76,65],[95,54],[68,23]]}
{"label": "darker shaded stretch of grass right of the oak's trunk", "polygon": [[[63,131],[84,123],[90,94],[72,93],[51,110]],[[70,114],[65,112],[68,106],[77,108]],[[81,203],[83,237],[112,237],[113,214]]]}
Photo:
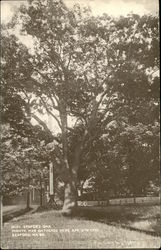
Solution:
{"label": "darker shaded stretch of grass right of the oak's trunk", "polygon": [[131,205],[83,208],[85,218],[120,225],[135,231],[161,236],[161,213],[159,205]]}

